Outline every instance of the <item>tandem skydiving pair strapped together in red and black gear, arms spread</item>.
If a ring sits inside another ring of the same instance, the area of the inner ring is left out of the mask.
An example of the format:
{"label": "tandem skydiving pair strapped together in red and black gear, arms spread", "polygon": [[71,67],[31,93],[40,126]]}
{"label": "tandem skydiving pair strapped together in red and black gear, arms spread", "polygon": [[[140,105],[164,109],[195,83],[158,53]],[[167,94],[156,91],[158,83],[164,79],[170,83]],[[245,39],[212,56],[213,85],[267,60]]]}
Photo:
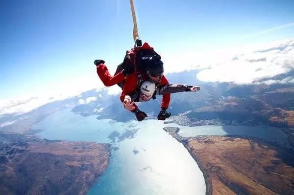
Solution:
{"label": "tandem skydiving pair strapped together in red and black gear, arms spread", "polygon": [[123,91],[121,101],[125,109],[135,113],[138,121],[144,120],[147,114],[141,111],[134,102],[155,99],[156,95],[163,95],[161,111],[157,119],[165,120],[171,116],[167,111],[171,100],[171,93],[183,91],[198,91],[199,86],[183,84],[169,84],[163,75],[164,67],[161,56],[148,43],[134,47],[127,51],[123,63],[118,65],[114,76],[109,73],[103,60],[95,60],[97,73],[106,87],[120,86]]}

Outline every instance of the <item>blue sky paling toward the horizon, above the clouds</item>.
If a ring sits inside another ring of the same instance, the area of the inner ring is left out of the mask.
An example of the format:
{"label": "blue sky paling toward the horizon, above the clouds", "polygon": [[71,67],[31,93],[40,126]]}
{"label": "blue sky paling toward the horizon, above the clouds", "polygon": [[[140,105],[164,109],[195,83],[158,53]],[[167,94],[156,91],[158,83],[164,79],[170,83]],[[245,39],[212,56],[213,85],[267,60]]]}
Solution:
{"label": "blue sky paling toward the horizon, above the clouds", "polygon": [[[293,0],[134,2],[141,39],[163,54],[294,37]],[[98,83],[93,61],[114,72],[133,45],[129,0],[0,0],[0,25],[0,99]]]}

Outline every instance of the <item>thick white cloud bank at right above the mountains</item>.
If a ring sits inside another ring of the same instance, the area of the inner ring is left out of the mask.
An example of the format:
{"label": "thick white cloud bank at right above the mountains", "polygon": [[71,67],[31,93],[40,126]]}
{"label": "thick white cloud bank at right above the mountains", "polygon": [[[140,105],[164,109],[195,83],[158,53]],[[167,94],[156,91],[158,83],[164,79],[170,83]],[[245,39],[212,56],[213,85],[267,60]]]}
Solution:
{"label": "thick white cloud bank at right above the mountains", "polygon": [[[294,69],[294,39],[268,44],[221,64],[201,70],[197,78],[206,82],[252,84]],[[284,80],[284,82],[291,82]],[[268,82],[273,83],[273,82]]]}

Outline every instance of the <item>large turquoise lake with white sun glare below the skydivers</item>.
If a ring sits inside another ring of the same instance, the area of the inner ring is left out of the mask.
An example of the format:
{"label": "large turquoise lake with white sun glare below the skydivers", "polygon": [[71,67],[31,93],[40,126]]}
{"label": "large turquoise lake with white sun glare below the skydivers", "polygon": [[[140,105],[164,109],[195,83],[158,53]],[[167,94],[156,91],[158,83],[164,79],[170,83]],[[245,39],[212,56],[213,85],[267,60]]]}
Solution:
{"label": "large turquoise lake with white sun glare below the skydivers", "polygon": [[163,127],[157,120],[118,123],[65,109],[34,129],[43,129],[38,135],[47,139],[112,144],[110,164],[89,195],[204,195],[203,173]]}

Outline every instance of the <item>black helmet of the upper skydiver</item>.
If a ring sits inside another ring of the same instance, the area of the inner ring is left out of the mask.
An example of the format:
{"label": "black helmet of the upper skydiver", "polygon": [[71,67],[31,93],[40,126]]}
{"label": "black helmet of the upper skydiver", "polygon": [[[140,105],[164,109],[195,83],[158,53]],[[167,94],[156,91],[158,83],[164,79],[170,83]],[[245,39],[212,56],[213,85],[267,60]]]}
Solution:
{"label": "black helmet of the upper skydiver", "polygon": [[163,62],[156,55],[144,56],[142,60],[145,61],[146,73],[153,77],[163,75]]}

